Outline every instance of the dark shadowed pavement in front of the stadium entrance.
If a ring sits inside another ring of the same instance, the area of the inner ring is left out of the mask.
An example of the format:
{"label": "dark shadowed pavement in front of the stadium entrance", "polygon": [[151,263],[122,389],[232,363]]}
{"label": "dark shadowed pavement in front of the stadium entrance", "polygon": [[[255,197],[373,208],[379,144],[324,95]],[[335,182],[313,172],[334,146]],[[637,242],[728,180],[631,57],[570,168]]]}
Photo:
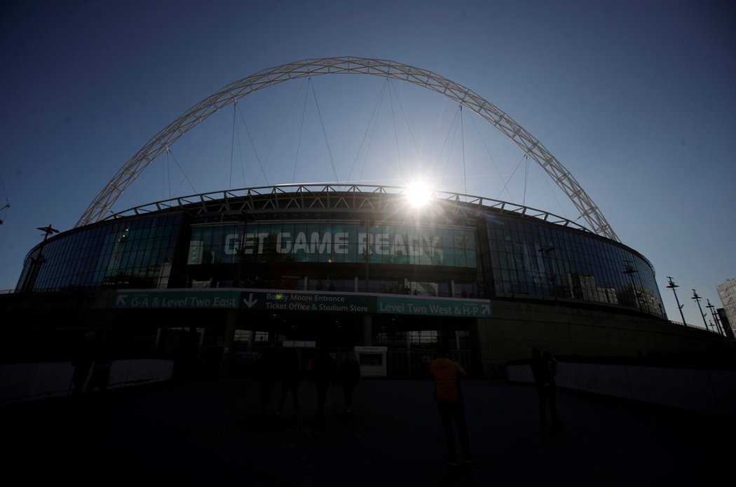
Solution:
{"label": "dark shadowed pavement in front of the stadium entrance", "polygon": [[[559,391],[565,427],[542,430],[536,391],[464,382],[478,462],[451,468],[432,383],[364,380],[353,413],[330,388],[314,424],[314,385],[301,416],[258,412],[250,379],[110,391],[107,406],[68,398],[2,410],[4,474],[13,483],[99,486],[695,486],[730,471],[732,416]],[[280,394],[276,385],[272,400]],[[726,477],[728,478],[728,477]]]}

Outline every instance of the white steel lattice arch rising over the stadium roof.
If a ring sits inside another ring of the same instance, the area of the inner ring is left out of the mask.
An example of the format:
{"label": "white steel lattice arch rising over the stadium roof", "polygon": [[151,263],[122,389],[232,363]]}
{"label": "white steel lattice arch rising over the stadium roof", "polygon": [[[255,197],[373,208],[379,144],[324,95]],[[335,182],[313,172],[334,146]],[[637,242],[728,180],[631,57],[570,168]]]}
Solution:
{"label": "white steel lattice arch rising over the stadium roof", "polygon": [[289,63],[275,68],[265,69],[241,79],[208,96],[191,107],[186,113],[171,122],[169,126],[154,135],[117,174],[110,179],[105,188],[91,202],[76,227],[90,224],[105,218],[110,208],[125,191],[130,183],[141,174],[162,152],[176,142],[182,135],[204,121],[210,115],[238,99],[254,91],[261,90],[278,83],[319,74],[371,74],[388,77],[420,85],[453,99],[459,104],[473,110],[490,124],[499,129],[514,143],[520,146],[529,157],[534,159],[542,169],[562,188],[581,216],[590,225],[590,229],[598,235],[619,241],[606,218],[592,202],[590,196],[581,188],[576,179],[533,135],[512,120],[509,115],[474,93],[431,71],[396,63],[389,60],[375,60],[364,57],[325,57]]}

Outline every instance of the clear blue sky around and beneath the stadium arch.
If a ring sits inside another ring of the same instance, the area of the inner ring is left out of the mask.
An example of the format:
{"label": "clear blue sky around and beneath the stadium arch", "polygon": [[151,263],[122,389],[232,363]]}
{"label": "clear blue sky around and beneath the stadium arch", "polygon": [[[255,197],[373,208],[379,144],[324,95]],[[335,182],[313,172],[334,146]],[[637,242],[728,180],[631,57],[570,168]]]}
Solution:
{"label": "clear blue sky around and beneath the stadium arch", "polygon": [[[651,260],[670,319],[679,321],[679,312],[665,276],[680,285],[687,321],[700,325],[692,288],[720,308],[715,286],[736,277],[730,2],[0,8],[0,206],[11,205],[0,211],[0,289],[15,287],[24,255],[42,238],[36,227],[74,227],[118,168],[189,107],[262,69],[336,56],[434,71],[508,113],[576,177],[621,241]],[[247,97],[238,111],[223,110],[185,135],[116,209],[230,185],[332,181],[331,154],[340,180],[402,184],[422,167],[427,176],[434,169],[439,189],[578,217],[480,118],[464,113],[459,124],[455,104],[406,83],[393,82],[381,99],[383,81],[364,78],[316,77]],[[373,110],[378,121],[369,129]]]}

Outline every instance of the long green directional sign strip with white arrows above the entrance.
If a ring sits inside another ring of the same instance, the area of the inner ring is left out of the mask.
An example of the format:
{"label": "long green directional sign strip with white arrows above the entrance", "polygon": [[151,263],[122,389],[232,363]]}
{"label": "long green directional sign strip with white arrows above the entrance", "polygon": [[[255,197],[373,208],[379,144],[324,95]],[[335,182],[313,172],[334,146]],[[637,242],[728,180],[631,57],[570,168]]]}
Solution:
{"label": "long green directional sign strip with white arrows above the entrance", "polygon": [[115,308],[145,310],[239,308],[308,313],[386,313],[473,318],[491,316],[491,303],[484,299],[263,291],[262,289],[118,291]]}

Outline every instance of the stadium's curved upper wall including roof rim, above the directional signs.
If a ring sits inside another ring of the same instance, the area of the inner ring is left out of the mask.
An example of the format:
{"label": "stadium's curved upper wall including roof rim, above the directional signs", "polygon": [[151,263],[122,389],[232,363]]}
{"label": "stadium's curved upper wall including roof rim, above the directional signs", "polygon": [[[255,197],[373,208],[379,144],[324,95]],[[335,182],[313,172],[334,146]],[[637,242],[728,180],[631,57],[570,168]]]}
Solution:
{"label": "stadium's curved upper wall including roof rim, above the directional signs", "polygon": [[[158,204],[157,211],[129,210],[138,214],[118,214],[37,246],[26,257],[18,290],[42,253],[34,291],[191,287],[202,281],[225,287],[238,284],[238,271],[240,284],[252,285],[254,266],[283,270],[286,264],[303,271],[301,282],[306,277],[318,285],[329,266],[332,276],[350,281],[339,282],[344,291],[355,291],[354,277],[358,291],[366,291],[368,241],[376,277],[369,280],[369,291],[396,289],[409,277],[438,275],[439,269],[447,280],[411,280],[409,291],[558,298],[664,315],[654,269],[645,257],[563,218],[551,223],[545,221],[548,213],[508,203],[483,205],[493,200],[476,197],[463,202],[464,195],[457,194],[414,208],[402,193],[384,192],[386,187],[353,188],[306,192],[296,186],[293,193],[259,188],[260,193],[244,190],[247,196],[222,193],[230,194],[229,200],[177,200],[166,208]],[[269,284],[280,285],[275,278]]]}

